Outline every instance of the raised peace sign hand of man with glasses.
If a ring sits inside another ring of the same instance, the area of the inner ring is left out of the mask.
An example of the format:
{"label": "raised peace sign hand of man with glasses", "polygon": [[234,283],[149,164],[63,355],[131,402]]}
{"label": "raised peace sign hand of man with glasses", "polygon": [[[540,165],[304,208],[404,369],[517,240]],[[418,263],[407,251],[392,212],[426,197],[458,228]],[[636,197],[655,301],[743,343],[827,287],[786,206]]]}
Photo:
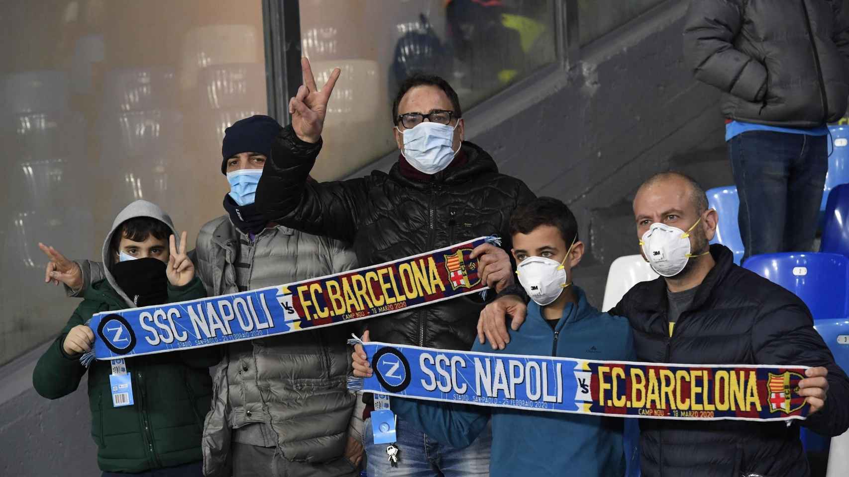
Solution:
{"label": "raised peace sign hand of man with glasses", "polygon": [[292,128],[301,141],[318,142],[324,128],[324,116],[327,114],[327,102],[330,93],[336,86],[341,69],[335,68],[330,73],[321,91],[316,86],[312,75],[310,60],[301,58],[301,69],[304,72],[304,84],[298,88],[298,94],[289,100],[289,114],[292,115]]}

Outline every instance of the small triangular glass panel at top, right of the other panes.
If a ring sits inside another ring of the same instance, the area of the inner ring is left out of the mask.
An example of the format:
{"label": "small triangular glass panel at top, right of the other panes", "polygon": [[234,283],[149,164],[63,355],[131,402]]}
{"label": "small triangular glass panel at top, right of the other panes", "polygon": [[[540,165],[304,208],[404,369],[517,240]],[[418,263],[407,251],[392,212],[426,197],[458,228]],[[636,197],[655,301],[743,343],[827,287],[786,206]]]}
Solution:
{"label": "small triangular glass panel at top, right of the other panes", "polygon": [[628,20],[637,17],[664,0],[578,0],[578,22],[581,45],[592,42],[599,36]]}

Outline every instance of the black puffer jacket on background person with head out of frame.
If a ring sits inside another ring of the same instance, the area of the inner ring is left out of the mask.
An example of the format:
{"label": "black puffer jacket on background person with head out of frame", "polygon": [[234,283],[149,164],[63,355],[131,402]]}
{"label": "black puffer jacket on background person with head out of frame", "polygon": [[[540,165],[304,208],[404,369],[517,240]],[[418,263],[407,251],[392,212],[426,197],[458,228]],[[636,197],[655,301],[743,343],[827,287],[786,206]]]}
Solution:
{"label": "black puffer jacket on background person with head out of frame", "polygon": [[810,128],[846,113],[843,0],[690,0],[684,58],[729,119]]}

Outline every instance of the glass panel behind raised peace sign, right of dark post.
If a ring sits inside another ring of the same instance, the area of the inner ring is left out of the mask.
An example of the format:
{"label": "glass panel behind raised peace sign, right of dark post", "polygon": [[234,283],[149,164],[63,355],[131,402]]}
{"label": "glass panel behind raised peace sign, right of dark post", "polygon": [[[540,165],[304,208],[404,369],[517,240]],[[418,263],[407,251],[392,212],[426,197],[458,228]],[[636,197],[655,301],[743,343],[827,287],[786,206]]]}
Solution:
{"label": "glass panel behind raised peace sign, right of dark post", "polygon": [[301,0],[303,51],[318,85],[342,75],[313,176],[350,174],[396,148],[392,101],[402,80],[440,75],[469,109],[554,62],[554,0]]}

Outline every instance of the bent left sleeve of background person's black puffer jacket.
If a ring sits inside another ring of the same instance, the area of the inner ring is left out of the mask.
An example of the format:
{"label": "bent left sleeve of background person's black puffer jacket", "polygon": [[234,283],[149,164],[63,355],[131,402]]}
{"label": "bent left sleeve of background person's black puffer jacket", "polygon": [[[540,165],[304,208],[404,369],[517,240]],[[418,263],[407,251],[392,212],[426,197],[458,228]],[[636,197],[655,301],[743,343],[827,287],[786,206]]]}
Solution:
{"label": "bent left sleeve of background person's black puffer jacket", "polygon": [[690,0],[684,58],[696,80],[756,103],[766,93],[767,69],[734,48],[742,24],[738,0]]}

